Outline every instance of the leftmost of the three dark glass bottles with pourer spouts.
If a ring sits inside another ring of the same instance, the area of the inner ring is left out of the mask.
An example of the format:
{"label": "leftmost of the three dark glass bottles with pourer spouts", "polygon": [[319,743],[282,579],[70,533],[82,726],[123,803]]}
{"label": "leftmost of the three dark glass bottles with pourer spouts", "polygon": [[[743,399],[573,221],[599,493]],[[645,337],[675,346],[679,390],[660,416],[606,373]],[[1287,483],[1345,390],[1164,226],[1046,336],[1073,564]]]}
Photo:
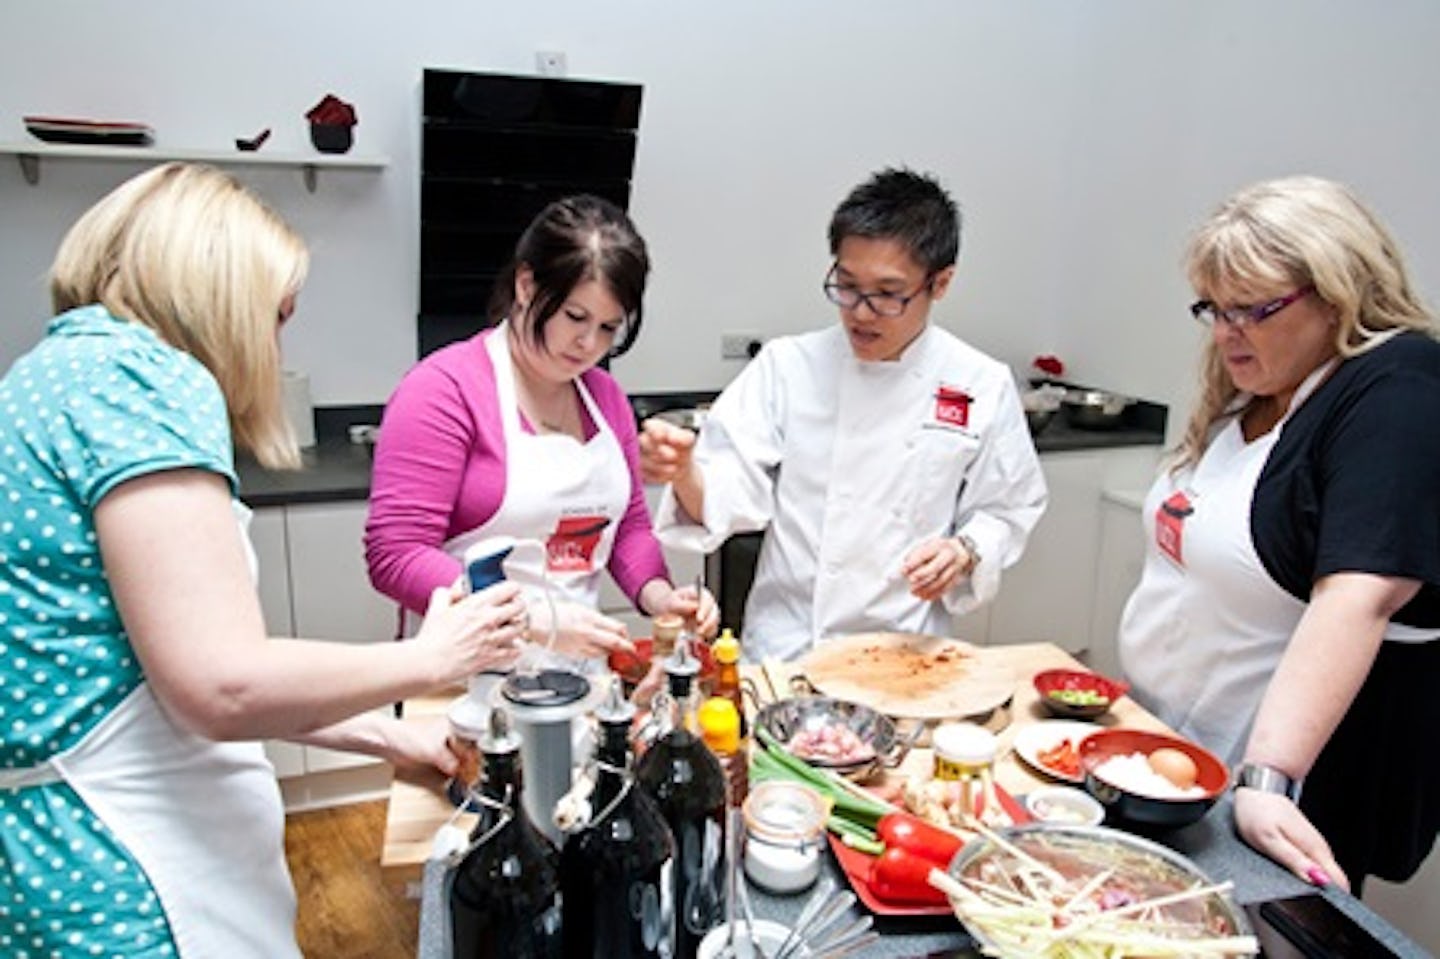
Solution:
{"label": "leftmost of the three dark glass bottles with pourer spouts", "polygon": [[480,750],[480,821],[449,894],[454,958],[559,959],[560,855],[520,803],[520,736],[503,707]]}

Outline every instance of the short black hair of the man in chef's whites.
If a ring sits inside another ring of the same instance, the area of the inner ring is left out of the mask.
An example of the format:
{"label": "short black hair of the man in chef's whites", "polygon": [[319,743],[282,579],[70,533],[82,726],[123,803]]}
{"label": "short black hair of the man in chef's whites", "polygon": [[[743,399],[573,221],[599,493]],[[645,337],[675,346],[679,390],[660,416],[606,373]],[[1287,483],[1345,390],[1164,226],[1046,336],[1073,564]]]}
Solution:
{"label": "short black hair of the man in chef's whites", "polygon": [[887,167],[850,192],[829,219],[829,252],[847,236],[893,239],[937,274],[960,255],[960,210],[945,187],[923,173]]}

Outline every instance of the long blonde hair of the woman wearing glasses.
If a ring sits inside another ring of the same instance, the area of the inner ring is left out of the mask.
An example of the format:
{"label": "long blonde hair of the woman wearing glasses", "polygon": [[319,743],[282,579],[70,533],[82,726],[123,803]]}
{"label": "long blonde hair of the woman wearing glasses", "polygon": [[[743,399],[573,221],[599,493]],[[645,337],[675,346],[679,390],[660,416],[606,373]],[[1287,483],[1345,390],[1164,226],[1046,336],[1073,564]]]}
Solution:
{"label": "long blonde hair of the woman wearing glasses", "polygon": [[[1364,353],[1392,330],[1424,330],[1434,318],[1410,285],[1400,248],[1345,186],[1286,177],[1246,187],[1195,232],[1185,272],[1200,297],[1251,282],[1313,287],[1336,314],[1341,359]],[[1215,341],[1201,357],[1201,397],[1172,469],[1197,462],[1214,425],[1240,400]]]}

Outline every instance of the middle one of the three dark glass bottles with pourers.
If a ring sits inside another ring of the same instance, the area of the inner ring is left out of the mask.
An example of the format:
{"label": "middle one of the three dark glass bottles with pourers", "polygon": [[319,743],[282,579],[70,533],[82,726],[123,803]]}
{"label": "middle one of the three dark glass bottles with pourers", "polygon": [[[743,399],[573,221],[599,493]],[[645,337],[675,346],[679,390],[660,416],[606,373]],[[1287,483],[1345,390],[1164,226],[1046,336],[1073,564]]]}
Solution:
{"label": "middle one of the three dark glass bottles with pourers", "polygon": [[595,792],[590,822],[560,852],[566,959],[674,956],[670,870],[675,841],[655,799],[631,770],[635,707],[619,680],[595,711]]}

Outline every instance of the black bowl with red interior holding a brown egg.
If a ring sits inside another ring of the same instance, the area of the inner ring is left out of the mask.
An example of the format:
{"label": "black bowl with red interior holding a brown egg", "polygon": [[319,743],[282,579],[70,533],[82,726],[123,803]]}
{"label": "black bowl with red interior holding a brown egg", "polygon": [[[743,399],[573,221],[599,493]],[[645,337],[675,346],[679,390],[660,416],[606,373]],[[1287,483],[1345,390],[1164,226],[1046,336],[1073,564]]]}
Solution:
{"label": "black bowl with red interior holding a brown egg", "polygon": [[[1156,749],[1165,747],[1178,749],[1195,762],[1198,770],[1195,785],[1204,789],[1205,795],[1192,799],[1159,799],[1130,792],[1094,775],[1096,766],[1112,756],[1132,753],[1149,756]],[[1230,785],[1230,773],[1218,756],[1179,736],[1138,729],[1104,729],[1081,739],[1079,750],[1084,786],[1113,819],[1168,828],[1189,825],[1204,816]]]}

